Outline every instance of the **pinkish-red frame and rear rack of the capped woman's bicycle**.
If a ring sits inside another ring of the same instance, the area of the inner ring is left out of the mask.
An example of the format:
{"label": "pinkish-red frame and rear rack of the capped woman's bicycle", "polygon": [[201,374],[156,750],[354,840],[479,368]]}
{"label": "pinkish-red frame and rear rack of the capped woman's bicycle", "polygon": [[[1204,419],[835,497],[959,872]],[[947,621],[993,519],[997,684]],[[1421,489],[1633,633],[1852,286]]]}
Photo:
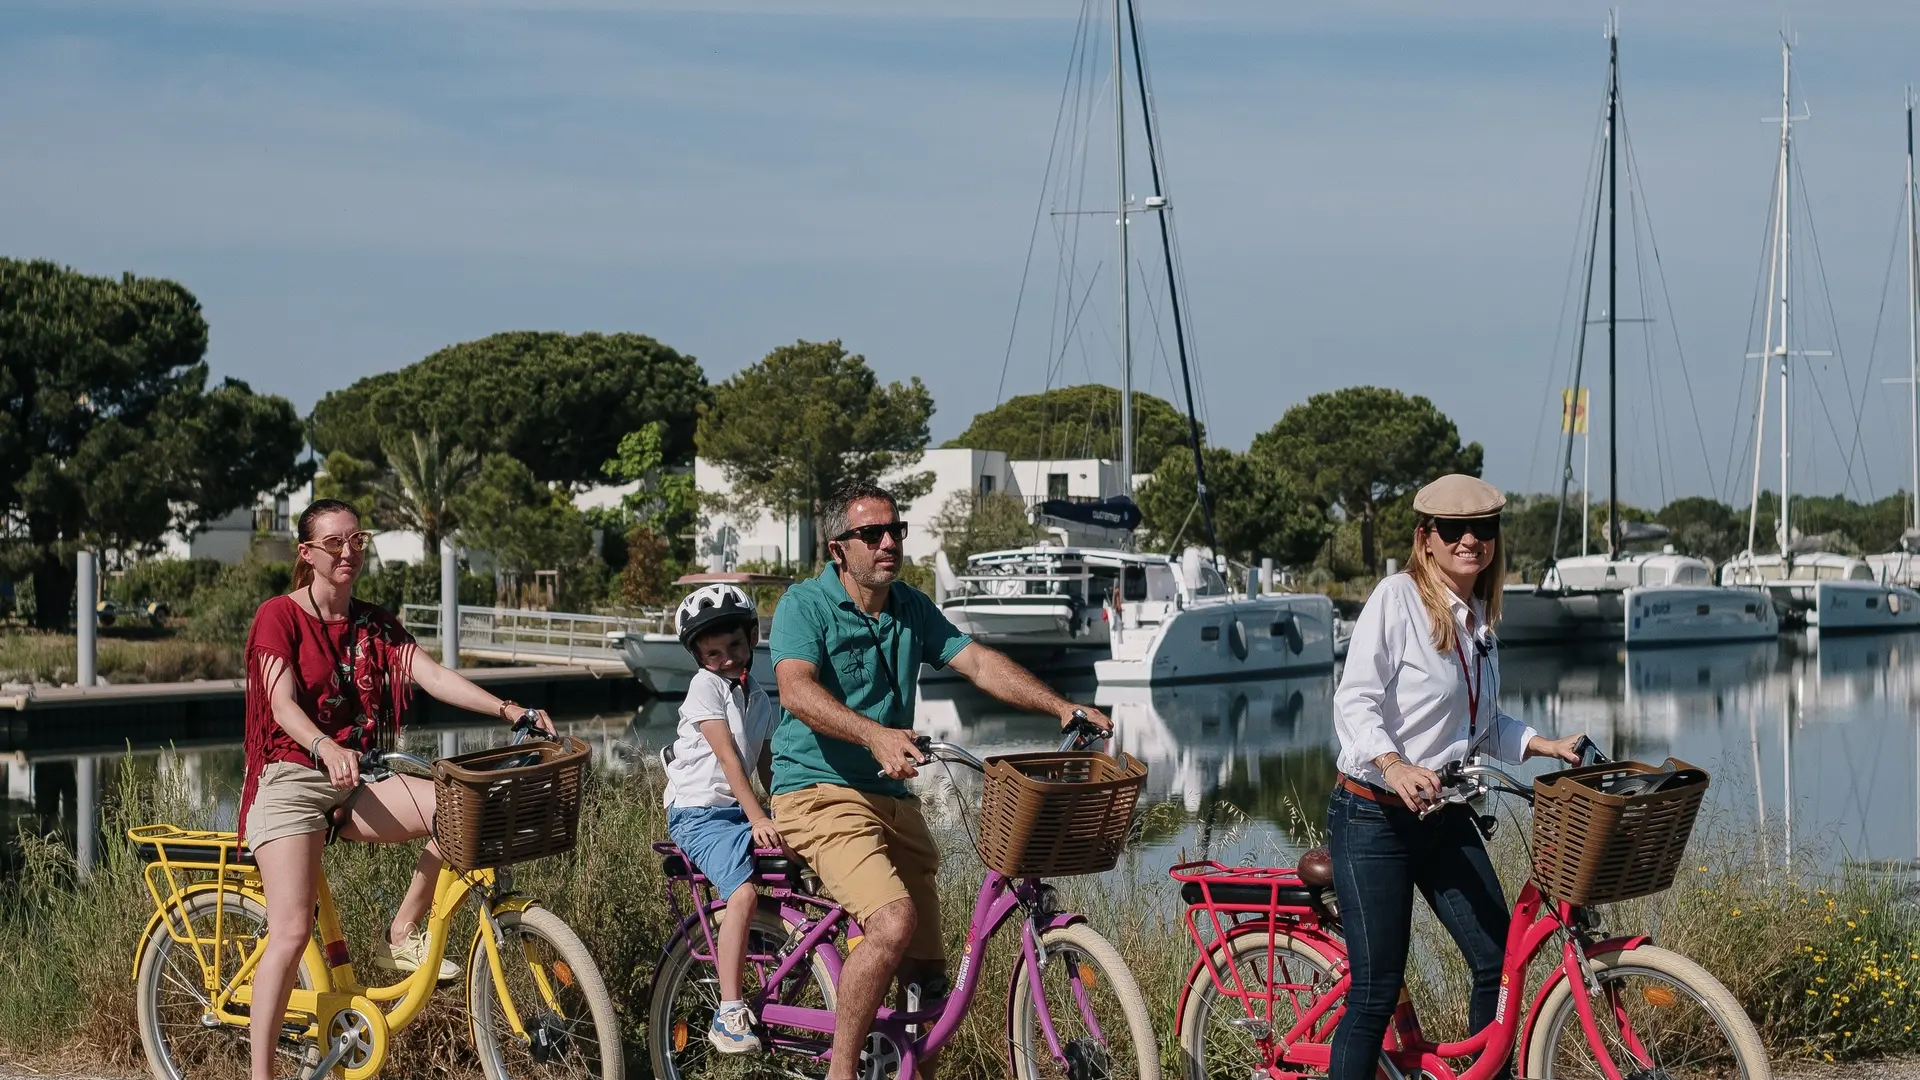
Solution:
{"label": "pinkish-red frame and rear rack of the capped woman's bicycle", "polygon": [[[1177,871],[1181,867],[1177,867]],[[1283,884],[1284,878],[1290,876],[1290,872],[1273,872],[1273,871],[1267,871],[1267,874],[1273,874],[1275,880]],[[1294,878],[1294,882],[1298,882],[1298,878]],[[1190,934],[1194,934],[1194,942],[1202,947],[1202,955],[1200,961],[1194,965],[1194,970],[1198,972],[1198,969],[1204,965],[1208,969],[1210,978],[1213,980],[1215,990],[1223,997],[1240,999],[1242,1007],[1246,1009],[1246,1017],[1250,1020],[1271,1022],[1275,999],[1281,994],[1294,994],[1300,988],[1269,986],[1265,992],[1248,990],[1246,982],[1238,974],[1238,965],[1233,963],[1231,951],[1227,951],[1225,959],[1233,970],[1233,986],[1229,986],[1227,980],[1221,978],[1219,965],[1215,965],[1212,959],[1212,949],[1215,947],[1223,951],[1231,949],[1229,942],[1233,938],[1248,932],[1265,930],[1269,932],[1267,970],[1271,972],[1275,957],[1275,945],[1271,944],[1271,934],[1284,928],[1286,934],[1311,944],[1317,951],[1321,951],[1329,961],[1334,963],[1336,970],[1340,972],[1340,978],[1331,988],[1321,992],[1311,1007],[1308,1007],[1304,1013],[1298,1015],[1292,1028],[1288,1028],[1286,1032],[1267,1030],[1263,1038],[1256,1040],[1260,1043],[1261,1055],[1267,1061],[1267,1076],[1271,1080],[1308,1080],[1308,1076],[1325,1074],[1332,1059],[1332,1045],[1329,1038],[1346,1011],[1344,1007],[1346,992],[1352,988],[1352,974],[1348,974],[1346,970],[1344,944],[1321,928],[1317,920],[1319,917],[1313,911],[1300,911],[1290,905],[1275,905],[1271,909],[1256,905],[1206,905],[1206,907],[1215,911],[1213,915],[1215,938],[1212,944],[1202,944],[1200,934],[1196,932],[1194,913],[1200,911],[1202,905],[1188,907],[1187,911],[1187,928]],[[1261,913],[1265,915],[1265,919],[1223,924],[1219,920],[1219,913],[1227,915]],[[1490,1080],[1496,1072],[1501,1070],[1501,1067],[1505,1067],[1515,1049],[1524,1047],[1526,1040],[1532,1036],[1532,1022],[1540,1003],[1546,1001],[1546,995],[1559,984],[1559,980],[1567,980],[1569,990],[1572,994],[1574,1011],[1580,1019],[1580,1028],[1586,1032],[1588,1043],[1596,1049],[1596,1059],[1599,1061],[1601,1072],[1605,1074],[1607,1080],[1622,1080],[1619,1067],[1615,1067],[1611,1055],[1605,1053],[1607,1043],[1599,1034],[1597,1019],[1594,1013],[1594,997],[1588,992],[1590,982],[1584,959],[1613,949],[1632,947],[1647,942],[1647,938],[1645,936],[1611,938],[1603,942],[1584,944],[1582,947],[1576,949],[1576,945],[1580,945],[1580,938],[1578,934],[1571,932],[1571,928],[1574,926],[1578,926],[1578,920],[1571,905],[1548,901],[1548,897],[1542,896],[1542,892],[1534,886],[1534,882],[1526,882],[1526,886],[1521,890],[1519,899],[1515,899],[1513,903],[1513,919],[1507,924],[1507,951],[1500,976],[1500,999],[1494,1009],[1494,1022],[1461,1042],[1434,1043],[1428,1042],[1427,1036],[1421,1032],[1419,1017],[1413,1011],[1413,1003],[1402,997],[1400,1007],[1394,1013],[1394,1022],[1386,1032],[1386,1040],[1382,1042],[1382,1053],[1386,1055],[1386,1059],[1392,1061],[1396,1068],[1407,1074],[1425,1070],[1436,1080]],[[1542,949],[1549,947],[1549,940],[1555,934],[1563,936],[1561,963],[1551,970],[1548,978],[1542,980],[1542,986],[1534,994],[1532,1003],[1524,1011],[1515,1009],[1515,997],[1526,986],[1528,965],[1534,961],[1536,955],[1540,955]],[[1265,1015],[1256,1011],[1256,1001],[1263,1001]],[[1294,1003],[1298,1005],[1298,999]],[[1640,1045],[1638,1038],[1634,1038],[1632,1028],[1626,1024],[1626,1013],[1620,1009],[1619,1001],[1615,1001],[1611,1009],[1615,1013],[1615,1019],[1622,1024],[1620,1028],[1622,1040],[1628,1051],[1638,1059],[1634,1063],[1634,1068],[1651,1067],[1651,1057]],[[1471,1057],[1473,1065],[1469,1065],[1461,1072],[1455,1072],[1455,1068],[1450,1065],[1450,1059],[1463,1059],[1463,1057]],[[1300,1067],[1300,1070],[1279,1068],[1284,1065]]]}

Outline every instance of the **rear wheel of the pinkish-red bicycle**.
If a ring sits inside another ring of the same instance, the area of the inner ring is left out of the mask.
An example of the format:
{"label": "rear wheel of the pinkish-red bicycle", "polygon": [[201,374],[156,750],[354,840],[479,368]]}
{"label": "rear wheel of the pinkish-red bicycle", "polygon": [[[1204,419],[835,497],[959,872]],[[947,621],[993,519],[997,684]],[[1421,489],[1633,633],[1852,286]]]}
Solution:
{"label": "rear wheel of the pinkish-red bicycle", "polygon": [[[1269,953],[1271,944],[1271,953]],[[1260,1047],[1261,1028],[1271,1038],[1284,1036],[1340,976],[1334,961],[1309,942],[1290,934],[1248,932],[1229,938],[1227,955],[1212,945],[1212,963],[1229,988],[1238,972],[1240,984],[1256,994],[1248,1007],[1213,986],[1213,976],[1202,967],[1187,982],[1181,997],[1181,1059],[1187,1080],[1246,1080],[1273,1065]],[[1229,967],[1231,959],[1231,967]],[[1263,994],[1271,992],[1273,1011],[1267,1013]],[[1258,1022],[1256,1022],[1258,1020]],[[1332,1026],[1315,1032],[1331,1038]],[[1315,1042],[1309,1034],[1304,1042]],[[1271,1045],[1271,1043],[1269,1043]]]}

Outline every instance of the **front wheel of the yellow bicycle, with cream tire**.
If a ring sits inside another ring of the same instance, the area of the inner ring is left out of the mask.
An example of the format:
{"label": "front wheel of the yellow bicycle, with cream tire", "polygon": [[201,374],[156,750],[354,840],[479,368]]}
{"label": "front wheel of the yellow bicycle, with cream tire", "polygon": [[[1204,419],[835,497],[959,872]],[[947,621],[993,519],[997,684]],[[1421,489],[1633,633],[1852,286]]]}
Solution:
{"label": "front wheel of the yellow bicycle, with cream tire", "polygon": [[488,1080],[620,1080],[626,1074],[620,1020],[588,947],[545,907],[501,911],[495,920],[501,932],[501,976],[526,1036],[515,1034],[507,1011],[495,999],[486,942],[476,934],[467,957],[467,1009],[480,1070]]}

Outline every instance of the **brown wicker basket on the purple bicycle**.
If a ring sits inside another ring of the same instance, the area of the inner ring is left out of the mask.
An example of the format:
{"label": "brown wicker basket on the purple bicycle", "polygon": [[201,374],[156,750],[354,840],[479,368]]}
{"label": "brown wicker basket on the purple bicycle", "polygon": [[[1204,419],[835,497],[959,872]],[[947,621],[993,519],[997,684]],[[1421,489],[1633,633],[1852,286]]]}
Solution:
{"label": "brown wicker basket on the purple bicycle", "polygon": [[989,757],[979,861],[1010,878],[1112,871],[1144,784],[1146,765],[1131,753]]}

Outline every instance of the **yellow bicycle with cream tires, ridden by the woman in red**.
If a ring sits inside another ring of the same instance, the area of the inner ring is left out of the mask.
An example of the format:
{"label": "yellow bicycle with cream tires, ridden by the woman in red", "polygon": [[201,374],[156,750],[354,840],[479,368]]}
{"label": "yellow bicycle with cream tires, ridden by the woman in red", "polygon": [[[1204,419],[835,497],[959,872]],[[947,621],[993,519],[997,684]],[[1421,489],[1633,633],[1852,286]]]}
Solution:
{"label": "yellow bicycle with cream tires, ridden by the woman in red", "polygon": [[[568,738],[563,751],[570,748],[586,753],[580,740]],[[524,765],[528,757],[522,748],[520,763],[497,767],[492,786],[538,773],[541,765]],[[432,776],[434,765],[394,751],[371,751],[361,763],[363,776],[382,771]],[[438,817],[447,817],[445,807]],[[154,896],[134,963],[148,1067],[156,1080],[244,1078],[253,969],[267,940],[267,897],[252,853],[232,832],[144,824],[129,836],[148,863]],[[390,986],[361,984],[321,872],[319,938],[307,942],[294,972],[280,1038],[300,1076],[365,1080],[380,1070],[390,1034],[417,1020],[434,995],[453,915],[468,897],[478,901],[478,924],[467,949],[467,1013],[486,1076],[622,1080],[612,997],[580,938],[561,917],[515,894],[509,867],[461,871],[451,857],[434,886],[428,955]]]}

